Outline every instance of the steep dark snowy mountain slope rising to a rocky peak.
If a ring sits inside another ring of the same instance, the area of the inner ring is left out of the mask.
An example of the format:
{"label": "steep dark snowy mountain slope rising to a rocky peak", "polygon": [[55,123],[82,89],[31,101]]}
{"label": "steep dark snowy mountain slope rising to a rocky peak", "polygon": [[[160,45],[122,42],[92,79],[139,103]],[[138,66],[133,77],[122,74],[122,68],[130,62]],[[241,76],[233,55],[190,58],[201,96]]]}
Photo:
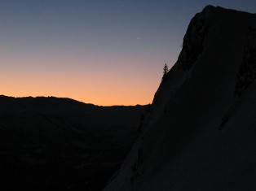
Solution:
{"label": "steep dark snowy mountain slope rising to a rocky peak", "polygon": [[104,190],[256,189],[256,15],[205,7]]}

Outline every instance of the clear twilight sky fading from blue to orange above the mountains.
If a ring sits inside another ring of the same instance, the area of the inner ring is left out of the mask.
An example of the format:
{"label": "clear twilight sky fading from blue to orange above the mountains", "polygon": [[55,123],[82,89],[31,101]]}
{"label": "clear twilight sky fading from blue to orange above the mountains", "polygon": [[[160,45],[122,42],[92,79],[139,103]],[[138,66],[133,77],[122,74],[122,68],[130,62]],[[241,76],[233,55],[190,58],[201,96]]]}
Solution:
{"label": "clear twilight sky fading from blue to orange above the mountains", "polygon": [[0,94],[148,104],[209,4],[256,12],[255,0],[0,0]]}

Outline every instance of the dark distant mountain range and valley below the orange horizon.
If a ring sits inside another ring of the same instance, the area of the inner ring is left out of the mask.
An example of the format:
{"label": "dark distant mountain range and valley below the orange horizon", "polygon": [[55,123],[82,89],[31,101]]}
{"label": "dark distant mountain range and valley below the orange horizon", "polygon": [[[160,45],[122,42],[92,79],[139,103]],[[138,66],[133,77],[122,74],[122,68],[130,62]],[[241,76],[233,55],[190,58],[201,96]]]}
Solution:
{"label": "dark distant mountain range and valley below the orange horizon", "polygon": [[144,110],[0,96],[0,189],[103,189],[130,150]]}

